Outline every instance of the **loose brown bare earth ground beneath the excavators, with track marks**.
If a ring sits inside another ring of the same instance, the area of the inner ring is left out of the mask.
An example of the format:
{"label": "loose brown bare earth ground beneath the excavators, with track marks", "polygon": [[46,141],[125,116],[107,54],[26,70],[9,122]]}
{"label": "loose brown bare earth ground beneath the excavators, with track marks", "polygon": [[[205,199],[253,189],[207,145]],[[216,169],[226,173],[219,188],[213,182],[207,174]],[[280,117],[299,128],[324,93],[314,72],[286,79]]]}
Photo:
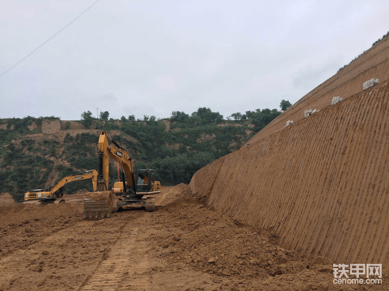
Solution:
{"label": "loose brown bare earth ground beneath the excavators, with track marks", "polygon": [[387,276],[333,284],[333,262],[299,258],[184,184],[163,187],[155,212],[99,221],[82,219],[83,194],[65,200],[0,207],[0,290],[388,290]]}

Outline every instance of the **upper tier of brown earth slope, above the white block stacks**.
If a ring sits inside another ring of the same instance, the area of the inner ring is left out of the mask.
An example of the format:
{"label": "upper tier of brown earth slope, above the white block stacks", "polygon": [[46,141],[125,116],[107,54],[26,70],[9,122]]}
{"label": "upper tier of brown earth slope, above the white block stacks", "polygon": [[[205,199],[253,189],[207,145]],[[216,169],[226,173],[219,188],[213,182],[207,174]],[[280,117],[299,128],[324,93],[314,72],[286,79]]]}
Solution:
{"label": "upper tier of brown earth slope, above the white block stacks", "polygon": [[389,80],[389,36],[368,49],[359,58],[334,76],[302,97],[283,114],[254,135],[248,143],[254,143],[276,130],[282,129],[288,120],[294,123],[304,119],[304,111],[323,109],[331,104],[333,97],[349,98],[363,91],[363,83],[373,78],[380,84]]}

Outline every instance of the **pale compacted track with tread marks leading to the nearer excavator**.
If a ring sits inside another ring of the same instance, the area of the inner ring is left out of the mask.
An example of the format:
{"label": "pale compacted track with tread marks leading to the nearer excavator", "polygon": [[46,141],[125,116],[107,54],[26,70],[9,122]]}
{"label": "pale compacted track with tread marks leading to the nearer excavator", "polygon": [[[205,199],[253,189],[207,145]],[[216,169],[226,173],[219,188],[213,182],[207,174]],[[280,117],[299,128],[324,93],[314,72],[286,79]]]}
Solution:
{"label": "pale compacted track with tread marks leading to the nearer excavator", "polygon": [[147,214],[140,212],[135,226],[127,224],[122,228],[108,258],[100,263],[79,290],[151,290],[147,221],[144,220]]}

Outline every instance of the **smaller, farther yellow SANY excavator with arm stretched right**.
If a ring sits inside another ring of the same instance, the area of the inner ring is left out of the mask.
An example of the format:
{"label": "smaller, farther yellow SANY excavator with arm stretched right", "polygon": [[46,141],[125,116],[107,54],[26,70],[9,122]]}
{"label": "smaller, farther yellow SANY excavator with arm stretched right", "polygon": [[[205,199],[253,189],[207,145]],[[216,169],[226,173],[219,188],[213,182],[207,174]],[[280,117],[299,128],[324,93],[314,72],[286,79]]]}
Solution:
{"label": "smaller, farther yellow SANY excavator with arm stretched right", "polygon": [[[57,198],[63,197],[64,186],[70,182],[92,179],[93,191],[97,190],[97,177],[99,173],[93,169],[62,178],[54,187],[30,190],[24,194],[24,201],[37,200],[41,204],[53,203]],[[59,203],[65,203],[60,200]]]}

